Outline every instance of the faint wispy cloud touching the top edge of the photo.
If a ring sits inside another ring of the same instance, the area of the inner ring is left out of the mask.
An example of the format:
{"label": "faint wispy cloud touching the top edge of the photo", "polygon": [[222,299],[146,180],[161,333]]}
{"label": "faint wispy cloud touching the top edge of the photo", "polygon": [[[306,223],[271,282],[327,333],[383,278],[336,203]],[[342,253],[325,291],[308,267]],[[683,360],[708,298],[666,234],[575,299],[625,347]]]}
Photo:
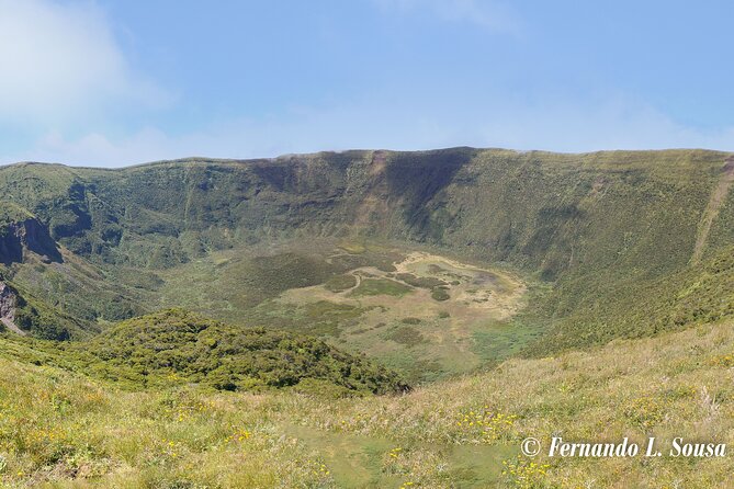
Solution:
{"label": "faint wispy cloud touching the top edge of the photo", "polygon": [[521,31],[518,15],[505,3],[494,0],[375,0],[386,11],[410,13],[428,11],[450,22],[467,22],[498,33]]}

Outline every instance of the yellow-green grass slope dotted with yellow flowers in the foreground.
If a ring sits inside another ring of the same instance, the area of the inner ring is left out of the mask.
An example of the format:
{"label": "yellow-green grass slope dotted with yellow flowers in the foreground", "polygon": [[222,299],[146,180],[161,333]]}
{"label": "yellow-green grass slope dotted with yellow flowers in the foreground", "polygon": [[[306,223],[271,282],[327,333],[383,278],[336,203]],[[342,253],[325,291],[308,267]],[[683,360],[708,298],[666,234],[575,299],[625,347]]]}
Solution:
{"label": "yellow-green grass slope dotted with yellow flowers in the foreground", "polygon": [[[511,360],[399,397],[127,393],[0,360],[5,487],[727,487],[724,458],[518,456],[526,436],[732,443],[734,326]],[[667,453],[667,448],[664,450]],[[531,465],[534,464],[534,465]],[[409,484],[410,482],[410,484]]]}

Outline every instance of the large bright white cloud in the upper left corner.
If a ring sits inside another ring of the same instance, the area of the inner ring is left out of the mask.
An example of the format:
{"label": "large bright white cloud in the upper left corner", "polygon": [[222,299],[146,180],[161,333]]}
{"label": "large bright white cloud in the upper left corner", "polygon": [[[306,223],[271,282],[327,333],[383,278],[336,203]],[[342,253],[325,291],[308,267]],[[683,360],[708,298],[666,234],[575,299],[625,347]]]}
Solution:
{"label": "large bright white cloud in the upper left corner", "polygon": [[[136,76],[94,3],[0,0],[0,122],[53,126],[170,100]],[[121,103],[124,102],[124,103]]]}

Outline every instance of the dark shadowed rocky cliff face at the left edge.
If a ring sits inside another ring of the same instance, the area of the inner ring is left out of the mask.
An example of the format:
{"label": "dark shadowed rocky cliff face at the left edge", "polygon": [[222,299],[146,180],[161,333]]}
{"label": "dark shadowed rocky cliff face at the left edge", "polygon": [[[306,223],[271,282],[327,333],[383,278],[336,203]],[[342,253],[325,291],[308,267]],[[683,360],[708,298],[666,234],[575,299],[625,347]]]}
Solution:
{"label": "dark shadowed rocky cliff face at the left edge", "polygon": [[38,219],[27,218],[0,228],[0,263],[20,263],[26,253],[37,254],[44,262],[60,262],[61,253]]}

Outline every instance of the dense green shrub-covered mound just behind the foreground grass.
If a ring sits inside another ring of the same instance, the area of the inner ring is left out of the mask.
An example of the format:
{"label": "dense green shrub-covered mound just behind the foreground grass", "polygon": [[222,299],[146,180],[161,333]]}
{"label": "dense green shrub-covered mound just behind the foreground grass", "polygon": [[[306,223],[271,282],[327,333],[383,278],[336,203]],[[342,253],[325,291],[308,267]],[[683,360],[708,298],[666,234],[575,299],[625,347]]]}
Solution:
{"label": "dense green shrub-covered mound just behind the foreground grass", "polygon": [[[301,389],[332,385],[361,395],[406,389],[395,373],[309,337],[232,327],[182,309],[129,319],[89,341],[58,346],[64,352],[55,360],[58,365],[127,388],[199,384],[262,390],[307,380]],[[55,352],[47,343],[34,348]]]}

